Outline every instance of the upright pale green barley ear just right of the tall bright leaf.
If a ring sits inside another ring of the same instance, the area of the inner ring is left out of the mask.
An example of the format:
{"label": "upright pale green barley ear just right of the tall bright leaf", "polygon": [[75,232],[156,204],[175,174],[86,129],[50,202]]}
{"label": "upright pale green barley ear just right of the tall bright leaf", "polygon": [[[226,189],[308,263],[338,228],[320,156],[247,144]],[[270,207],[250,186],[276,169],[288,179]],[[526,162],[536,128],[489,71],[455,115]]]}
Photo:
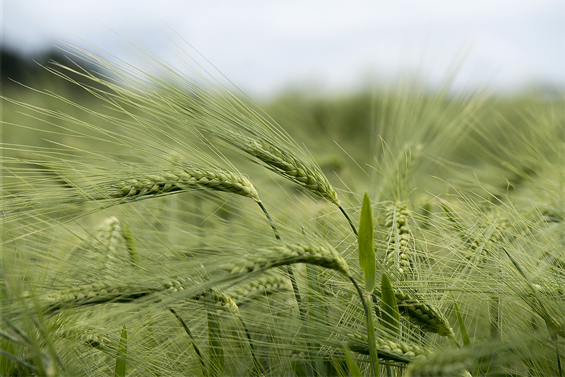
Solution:
{"label": "upright pale green barley ear just right of the tall bright leaf", "polygon": [[410,214],[405,202],[386,207],[386,262],[398,268],[400,274],[411,274],[413,237],[409,225]]}

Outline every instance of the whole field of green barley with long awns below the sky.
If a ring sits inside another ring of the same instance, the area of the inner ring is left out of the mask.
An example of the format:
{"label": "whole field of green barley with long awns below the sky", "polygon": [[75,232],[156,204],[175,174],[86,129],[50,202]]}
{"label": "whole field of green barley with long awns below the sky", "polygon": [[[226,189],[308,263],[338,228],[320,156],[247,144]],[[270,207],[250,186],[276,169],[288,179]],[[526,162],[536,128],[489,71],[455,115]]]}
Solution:
{"label": "whole field of green barley with long awns below the sky", "polygon": [[563,93],[62,48],[4,82],[1,376],[564,375]]}

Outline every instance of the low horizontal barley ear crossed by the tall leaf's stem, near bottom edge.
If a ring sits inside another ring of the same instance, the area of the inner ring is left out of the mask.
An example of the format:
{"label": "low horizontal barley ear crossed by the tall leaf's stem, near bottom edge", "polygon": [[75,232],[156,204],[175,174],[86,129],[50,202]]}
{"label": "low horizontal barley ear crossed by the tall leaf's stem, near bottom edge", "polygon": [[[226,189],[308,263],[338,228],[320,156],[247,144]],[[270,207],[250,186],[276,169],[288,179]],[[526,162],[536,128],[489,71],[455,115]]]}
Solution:
{"label": "low horizontal barley ear crossed by the tall leaf's stem, near bottom edge", "polygon": [[[431,351],[417,344],[386,340],[375,336],[375,345],[379,358],[409,363],[415,360],[426,359]],[[358,354],[369,354],[369,343],[365,335],[348,334],[347,347]]]}

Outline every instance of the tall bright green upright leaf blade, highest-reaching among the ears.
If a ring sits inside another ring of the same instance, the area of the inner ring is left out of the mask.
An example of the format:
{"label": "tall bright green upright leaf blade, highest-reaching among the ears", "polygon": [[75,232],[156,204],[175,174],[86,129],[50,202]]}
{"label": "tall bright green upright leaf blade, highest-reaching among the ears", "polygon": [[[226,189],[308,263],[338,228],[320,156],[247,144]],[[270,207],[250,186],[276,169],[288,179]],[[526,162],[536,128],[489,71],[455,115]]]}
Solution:
{"label": "tall bright green upright leaf blade, highest-reaching among the ears", "polygon": [[365,290],[369,293],[375,288],[375,250],[373,248],[373,215],[369,195],[365,193],[361,219],[359,219],[359,265],[365,279]]}

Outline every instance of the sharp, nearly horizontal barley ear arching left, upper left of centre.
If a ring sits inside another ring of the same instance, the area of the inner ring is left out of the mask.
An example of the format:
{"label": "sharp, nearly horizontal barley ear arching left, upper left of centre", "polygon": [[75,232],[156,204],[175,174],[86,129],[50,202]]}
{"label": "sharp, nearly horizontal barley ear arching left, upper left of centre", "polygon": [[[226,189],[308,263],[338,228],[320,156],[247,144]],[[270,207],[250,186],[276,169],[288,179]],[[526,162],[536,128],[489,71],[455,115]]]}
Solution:
{"label": "sharp, nearly horizontal barley ear arching left, upper left of centre", "polygon": [[92,187],[97,194],[88,199],[120,199],[123,202],[167,195],[189,190],[216,190],[232,192],[261,202],[255,187],[239,173],[218,168],[187,166],[182,170],[136,175],[119,182]]}

